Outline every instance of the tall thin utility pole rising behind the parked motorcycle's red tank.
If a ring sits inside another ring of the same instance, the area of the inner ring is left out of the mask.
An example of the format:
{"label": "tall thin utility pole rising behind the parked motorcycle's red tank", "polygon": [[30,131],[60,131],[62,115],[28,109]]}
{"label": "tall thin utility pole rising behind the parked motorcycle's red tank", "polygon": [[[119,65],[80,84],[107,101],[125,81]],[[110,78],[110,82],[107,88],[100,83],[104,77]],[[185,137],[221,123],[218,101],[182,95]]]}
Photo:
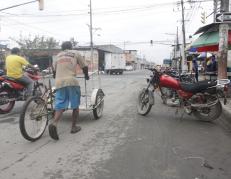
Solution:
{"label": "tall thin utility pole rising behind the parked motorcycle's red tank", "polygon": [[181,14],[182,14],[182,33],[183,33],[183,43],[182,43],[182,59],[181,59],[181,70],[185,71],[187,70],[186,67],[186,55],[185,55],[185,46],[186,46],[186,42],[185,42],[185,20],[184,20],[184,1],[181,0]]}

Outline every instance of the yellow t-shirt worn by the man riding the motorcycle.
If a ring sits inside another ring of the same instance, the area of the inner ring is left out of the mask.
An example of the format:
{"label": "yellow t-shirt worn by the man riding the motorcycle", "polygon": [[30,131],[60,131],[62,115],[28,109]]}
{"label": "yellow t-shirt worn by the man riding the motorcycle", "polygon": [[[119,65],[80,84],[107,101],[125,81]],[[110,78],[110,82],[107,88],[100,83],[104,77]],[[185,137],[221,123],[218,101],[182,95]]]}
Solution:
{"label": "yellow t-shirt worn by the man riding the motorcycle", "polygon": [[9,55],[6,57],[7,76],[12,78],[21,78],[23,75],[22,67],[28,65],[29,62],[18,55]]}

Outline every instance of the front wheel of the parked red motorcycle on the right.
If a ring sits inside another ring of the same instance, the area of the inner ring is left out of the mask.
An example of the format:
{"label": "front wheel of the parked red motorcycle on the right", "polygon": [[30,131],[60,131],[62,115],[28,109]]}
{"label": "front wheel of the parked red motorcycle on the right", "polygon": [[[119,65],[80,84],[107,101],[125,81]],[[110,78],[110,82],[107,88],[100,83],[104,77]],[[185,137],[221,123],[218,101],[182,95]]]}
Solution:
{"label": "front wheel of the parked red motorcycle on the right", "polygon": [[149,103],[149,91],[144,88],[138,95],[137,112],[145,116],[150,112],[151,108],[152,104]]}

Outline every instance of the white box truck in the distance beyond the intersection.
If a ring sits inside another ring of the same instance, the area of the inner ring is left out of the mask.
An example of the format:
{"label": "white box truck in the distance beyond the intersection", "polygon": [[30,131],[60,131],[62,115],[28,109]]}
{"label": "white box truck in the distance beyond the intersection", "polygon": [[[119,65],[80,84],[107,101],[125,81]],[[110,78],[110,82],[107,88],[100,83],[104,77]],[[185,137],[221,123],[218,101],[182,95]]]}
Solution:
{"label": "white box truck in the distance beyond the intersection", "polygon": [[105,53],[105,72],[107,74],[123,74],[126,67],[126,61],[123,54]]}

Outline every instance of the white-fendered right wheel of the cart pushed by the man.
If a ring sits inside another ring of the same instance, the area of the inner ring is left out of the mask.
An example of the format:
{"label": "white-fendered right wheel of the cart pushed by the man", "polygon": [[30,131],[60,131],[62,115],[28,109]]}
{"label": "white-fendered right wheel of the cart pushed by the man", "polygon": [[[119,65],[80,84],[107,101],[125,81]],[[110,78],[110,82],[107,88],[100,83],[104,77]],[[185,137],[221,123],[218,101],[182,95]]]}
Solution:
{"label": "white-fendered right wheel of the cart pushed by the man", "polygon": [[99,89],[97,91],[96,94],[96,101],[95,101],[95,105],[97,105],[99,103],[99,101],[101,101],[101,103],[95,108],[93,106],[93,115],[94,115],[94,119],[97,120],[99,119],[102,115],[103,115],[103,107],[104,107],[104,93],[101,89]]}

